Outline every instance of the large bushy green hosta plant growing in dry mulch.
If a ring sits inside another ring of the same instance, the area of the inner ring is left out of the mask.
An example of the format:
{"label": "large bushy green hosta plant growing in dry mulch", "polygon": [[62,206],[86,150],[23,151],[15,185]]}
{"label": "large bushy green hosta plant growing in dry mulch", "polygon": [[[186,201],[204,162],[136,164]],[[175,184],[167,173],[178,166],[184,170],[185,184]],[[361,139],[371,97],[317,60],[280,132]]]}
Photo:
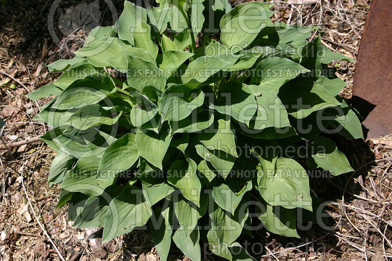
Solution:
{"label": "large bushy green hosta plant growing in dry mulch", "polygon": [[252,260],[241,234],[320,223],[311,170],[353,171],[331,137],[362,138],[361,124],[328,67],[351,59],[317,27],[271,22],[270,3],[157,2],[125,1],[28,95],[54,97],[36,116],[53,127],[49,182],[103,241],[149,229],[163,261],[173,244],[192,261],[203,245]]}

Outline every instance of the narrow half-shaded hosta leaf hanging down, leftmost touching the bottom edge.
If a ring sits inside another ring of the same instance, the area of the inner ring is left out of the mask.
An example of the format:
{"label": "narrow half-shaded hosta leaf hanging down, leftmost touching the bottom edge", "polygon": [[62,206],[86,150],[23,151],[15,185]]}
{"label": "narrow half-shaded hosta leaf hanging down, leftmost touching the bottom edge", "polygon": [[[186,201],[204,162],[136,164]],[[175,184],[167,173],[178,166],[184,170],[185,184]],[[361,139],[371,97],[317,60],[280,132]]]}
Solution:
{"label": "narrow half-shaded hosta leaf hanging down, leftmost touching the bottom edge", "polygon": [[[151,237],[154,241],[159,258],[162,261],[168,260],[170,245],[172,244],[172,207],[164,206],[164,209],[157,207],[154,209],[154,215],[149,220]],[[154,220],[152,220],[154,218]]]}

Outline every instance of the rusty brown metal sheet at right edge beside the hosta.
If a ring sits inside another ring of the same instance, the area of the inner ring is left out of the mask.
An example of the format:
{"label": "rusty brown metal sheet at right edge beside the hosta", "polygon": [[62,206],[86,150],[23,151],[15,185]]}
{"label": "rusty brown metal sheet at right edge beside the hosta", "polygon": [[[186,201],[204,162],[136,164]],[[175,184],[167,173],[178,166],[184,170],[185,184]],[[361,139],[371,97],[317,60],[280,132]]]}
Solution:
{"label": "rusty brown metal sheet at right edge beside the hosta", "polygon": [[365,118],[367,138],[392,133],[391,21],[392,0],[373,0],[359,47],[352,98]]}

